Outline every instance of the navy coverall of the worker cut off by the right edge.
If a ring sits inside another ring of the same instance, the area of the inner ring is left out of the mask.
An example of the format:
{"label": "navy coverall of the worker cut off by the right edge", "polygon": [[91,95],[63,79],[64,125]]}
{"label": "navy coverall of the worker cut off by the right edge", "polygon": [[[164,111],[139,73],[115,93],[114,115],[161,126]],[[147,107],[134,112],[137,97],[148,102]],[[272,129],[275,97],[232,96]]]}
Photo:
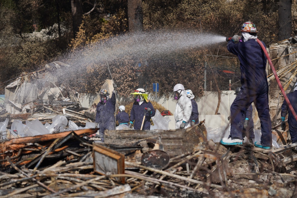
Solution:
{"label": "navy coverall of the worker cut off by the right edge", "polygon": [[[290,103],[292,104],[294,111],[297,112],[297,90],[288,93],[287,97]],[[292,142],[295,143],[297,142],[297,121],[295,120],[291,110],[288,108],[286,100],[284,100],[284,102],[282,103],[281,116],[286,117],[288,111],[289,111],[289,115],[288,115],[289,132],[290,132]]]}

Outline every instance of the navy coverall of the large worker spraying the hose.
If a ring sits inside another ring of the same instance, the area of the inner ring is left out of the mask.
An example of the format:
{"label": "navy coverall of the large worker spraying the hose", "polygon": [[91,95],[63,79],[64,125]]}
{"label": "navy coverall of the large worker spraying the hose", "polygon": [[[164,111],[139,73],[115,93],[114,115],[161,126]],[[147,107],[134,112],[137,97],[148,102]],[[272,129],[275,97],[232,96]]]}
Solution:
{"label": "navy coverall of the large worker spraying the hose", "polygon": [[[262,42],[265,46],[264,42]],[[241,139],[243,113],[254,102],[261,123],[261,144],[272,146],[271,120],[268,106],[267,58],[255,39],[235,44],[228,42],[228,51],[238,56],[241,70],[241,88],[230,107],[231,137]]]}

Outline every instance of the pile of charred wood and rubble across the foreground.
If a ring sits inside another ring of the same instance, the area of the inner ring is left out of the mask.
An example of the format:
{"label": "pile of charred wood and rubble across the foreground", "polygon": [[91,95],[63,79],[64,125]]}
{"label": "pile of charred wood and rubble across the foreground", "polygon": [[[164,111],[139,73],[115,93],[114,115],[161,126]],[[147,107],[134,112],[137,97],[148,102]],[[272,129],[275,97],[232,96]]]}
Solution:
{"label": "pile of charred wood and rubble across the foreground", "polygon": [[[296,144],[273,150],[176,131],[97,129],[0,142],[0,197],[293,197]],[[132,136],[133,134],[133,136]],[[131,141],[134,139],[134,141]]]}

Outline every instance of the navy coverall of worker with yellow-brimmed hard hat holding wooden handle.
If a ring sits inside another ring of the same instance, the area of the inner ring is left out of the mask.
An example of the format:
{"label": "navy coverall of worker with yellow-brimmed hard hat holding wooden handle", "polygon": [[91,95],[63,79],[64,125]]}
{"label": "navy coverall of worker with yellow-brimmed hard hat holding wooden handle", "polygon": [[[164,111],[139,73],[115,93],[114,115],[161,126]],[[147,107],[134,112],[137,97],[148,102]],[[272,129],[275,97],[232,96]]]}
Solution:
{"label": "navy coverall of worker with yellow-brimmed hard hat holding wooden handle", "polygon": [[[144,108],[150,108],[151,113],[149,113],[147,110]],[[156,111],[151,104],[151,102],[146,102],[143,101],[142,104],[138,104],[138,102],[134,102],[131,113],[130,113],[130,121],[134,121],[134,129],[135,130],[140,130],[141,128],[141,123],[143,120],[144,114],[146,115],[146,118],[144,119],[143,127],[142,130],[150,130],[151,129],[151,117],[155,115]]]}

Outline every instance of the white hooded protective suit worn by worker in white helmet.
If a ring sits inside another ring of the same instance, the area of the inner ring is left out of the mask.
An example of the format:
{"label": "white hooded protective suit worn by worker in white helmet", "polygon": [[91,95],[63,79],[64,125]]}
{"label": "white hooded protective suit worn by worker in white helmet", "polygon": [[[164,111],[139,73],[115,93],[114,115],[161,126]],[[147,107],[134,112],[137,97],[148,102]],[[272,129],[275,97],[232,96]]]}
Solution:
{"label": "white hooded protective suit worn by worker in white helmet", "polygon": [[186,91],[182,90],[180,94],[180,98],[177,100],[176,109],[174,112],[176,129],[179,129],[179,126],[183,121],[186,121],[185,129],[191,126],[191,123],[190,123],[191,113],[192,113],[192,102],[186,96]]}

